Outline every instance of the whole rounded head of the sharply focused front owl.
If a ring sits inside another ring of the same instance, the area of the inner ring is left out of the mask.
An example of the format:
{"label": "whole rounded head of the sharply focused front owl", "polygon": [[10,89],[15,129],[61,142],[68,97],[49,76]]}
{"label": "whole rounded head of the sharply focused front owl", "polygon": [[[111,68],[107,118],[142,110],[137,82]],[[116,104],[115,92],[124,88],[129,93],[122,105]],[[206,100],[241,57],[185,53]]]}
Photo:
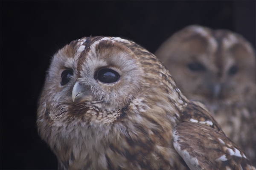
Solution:
{"label": "whole rounded head of the sharply focused front owl", "polygon": [[39,100],[38,131],[48,143],[55,136],[70,140],[84,128],[118,121],[128,107],[138,113],[155,103],[168,106],[166,111],[183,107],[186,98],[179,93],[169,71],[140,45],[117,37],[84,37],[52,58]]}

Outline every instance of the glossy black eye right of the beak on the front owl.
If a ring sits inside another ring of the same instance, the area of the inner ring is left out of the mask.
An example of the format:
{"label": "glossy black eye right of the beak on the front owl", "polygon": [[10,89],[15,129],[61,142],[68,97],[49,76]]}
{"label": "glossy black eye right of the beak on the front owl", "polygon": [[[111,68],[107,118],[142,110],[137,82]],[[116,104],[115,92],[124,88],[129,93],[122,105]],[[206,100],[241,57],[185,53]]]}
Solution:
{"label": "glossy black eye right of the beak on the front owl", "polygon": [[120,78],[120,75],[116,71],[113,71],[110,68],[101,69],[96,76],[96,79],[105,83],[116,82],[117,80],[119,80],[119,78]]}

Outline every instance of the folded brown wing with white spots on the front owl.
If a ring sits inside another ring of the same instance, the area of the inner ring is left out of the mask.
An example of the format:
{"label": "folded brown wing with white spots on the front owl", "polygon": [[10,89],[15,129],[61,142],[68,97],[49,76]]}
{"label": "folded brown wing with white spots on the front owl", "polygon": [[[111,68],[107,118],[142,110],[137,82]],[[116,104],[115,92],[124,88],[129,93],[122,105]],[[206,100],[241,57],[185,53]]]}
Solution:
{"label": "folded brown wing with white spots on the front owl", "polygon": [[[256,170],[241,149],[219,129],[214,119],[208,117],[206,110],[194,103],[187,107],[182,116],[184,119],[188,116],[189,120],[175,126],[173,145],[191,170]],[[198,108],[192,109],[195,107]],[[200,121],[202,119],[208,123]]]}

